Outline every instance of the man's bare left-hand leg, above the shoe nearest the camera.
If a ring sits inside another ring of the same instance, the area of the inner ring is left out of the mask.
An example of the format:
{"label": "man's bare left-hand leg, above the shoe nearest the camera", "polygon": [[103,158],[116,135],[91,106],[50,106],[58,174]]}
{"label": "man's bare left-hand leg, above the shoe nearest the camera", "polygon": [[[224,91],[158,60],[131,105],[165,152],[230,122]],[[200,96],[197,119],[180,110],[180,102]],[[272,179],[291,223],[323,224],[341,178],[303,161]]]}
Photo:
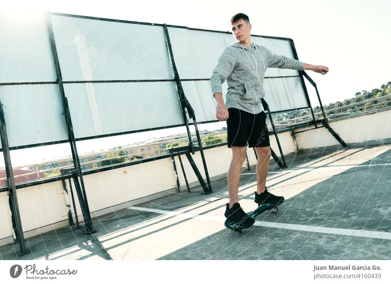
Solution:
{"label": "man's bare left-hand leg, above the shoe nearest the camera", "polygon": [[232,146],[232,160],[228,170],[228,194],[229,208],[239,202],[238,190],[240,173],[243,162],[246,159],[247,146]]}

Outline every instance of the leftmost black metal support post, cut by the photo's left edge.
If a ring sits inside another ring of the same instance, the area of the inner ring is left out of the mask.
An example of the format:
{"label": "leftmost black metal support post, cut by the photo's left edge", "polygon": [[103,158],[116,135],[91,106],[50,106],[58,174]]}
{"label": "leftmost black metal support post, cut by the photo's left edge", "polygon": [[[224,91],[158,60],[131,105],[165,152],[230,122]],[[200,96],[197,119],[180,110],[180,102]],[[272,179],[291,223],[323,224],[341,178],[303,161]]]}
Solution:
{"label": "leftmost black metal support post, cut by the photo's left edge", "polygon": [[12,228],[15,234],[15,240],[19,242],[21,248],[21,254],[27,254],[28,251],[26,249],[23,237],[23,228],[22,228],[22,220],[19,210],[18,196],[16,193],[15,187],[15,179],[14,179],[14,170],[12,169],[11,156],[9,152],[9,143],[7,136],[7,128],[5,123],[5,115],[3,111],[3,106],[0,101],[0,136],[1,136],[1,145],[3,148],[3,157],[4,157],[4,165],[5,172],[7,174],[6,185],[8,186],[8,202],[11,210],[11,220],[12,220]]}

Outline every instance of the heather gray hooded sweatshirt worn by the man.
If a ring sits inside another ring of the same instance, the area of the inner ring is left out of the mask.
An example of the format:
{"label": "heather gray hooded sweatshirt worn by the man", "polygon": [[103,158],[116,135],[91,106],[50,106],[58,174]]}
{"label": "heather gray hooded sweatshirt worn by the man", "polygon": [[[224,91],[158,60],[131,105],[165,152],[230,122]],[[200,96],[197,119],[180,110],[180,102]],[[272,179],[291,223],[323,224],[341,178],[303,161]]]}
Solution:
{"label": "heather gray hooded sweatshirt worn by the man", "polygon": [[263,79],[267,67],[303,70],[304,62],[273,54],[264,46],[251,42],[249,47],[239,41],[224,49],[211,77],[213,96],[222,93],[221,84],[227,80],[227,108],[233,107],[252,114],[263,111],[265,96]]}

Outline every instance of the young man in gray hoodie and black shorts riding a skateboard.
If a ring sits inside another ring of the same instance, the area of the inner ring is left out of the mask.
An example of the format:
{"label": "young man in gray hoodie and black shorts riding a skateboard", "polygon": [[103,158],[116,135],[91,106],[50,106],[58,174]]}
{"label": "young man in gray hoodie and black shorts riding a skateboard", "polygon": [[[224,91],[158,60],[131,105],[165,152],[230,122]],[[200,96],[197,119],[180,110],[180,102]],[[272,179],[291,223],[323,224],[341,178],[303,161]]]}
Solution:
{"label": "young man in gray hoodie and black shorts riding a skateboard", "polygon": [[[255,220],[244,213],[238,200],[240,172],[247,144],[255,147],[258,155],[255,202],[279,204],[284,201],[282,196],[273,195],[265,186],[271,155],[266,114],[261,103],[265,96],[263,79],[266,68],[312,70],[323,75],[328,72],[328,68],[273,54],[266,47],[254,44],[250,36],[251,23],[245,14],[234,15],[231,26],[237,41],[221,54],[211,77],[211,85],[217,101],[216,118],[227,121],[227,142],[228,147],[232,148],[232,161],[228,170],[229,203],[224,215],[243,227],[249,227]],[[221,84],[225,80],[228,92],[224,103]]]}

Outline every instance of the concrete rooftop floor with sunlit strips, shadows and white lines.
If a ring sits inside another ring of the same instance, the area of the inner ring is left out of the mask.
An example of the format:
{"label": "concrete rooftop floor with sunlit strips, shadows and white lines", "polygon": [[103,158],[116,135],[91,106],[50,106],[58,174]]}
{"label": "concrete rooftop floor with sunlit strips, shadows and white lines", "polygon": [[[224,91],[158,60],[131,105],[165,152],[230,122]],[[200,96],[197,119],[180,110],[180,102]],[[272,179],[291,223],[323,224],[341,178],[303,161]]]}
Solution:
{"label": "concrete rooftop floor with sunlit strips, shadows and white lines", "polygon": [[[2,260],[390,260],[391,144],[308,150],[270,163],[266,185],[285,197],[240,234],[224,227],[226,178],[93,219],[93,235],[70,227],[0,247]],[[224,165],[228,168],[228,165]],[[187,173],[188,175],[194,173]],[[254,170],[239,200],[256,208]],[[184,188],[182,188],[184,189]],[[83,226],[82,226],[83,227]],[[82,228],[84,230],[84,228]]]}

